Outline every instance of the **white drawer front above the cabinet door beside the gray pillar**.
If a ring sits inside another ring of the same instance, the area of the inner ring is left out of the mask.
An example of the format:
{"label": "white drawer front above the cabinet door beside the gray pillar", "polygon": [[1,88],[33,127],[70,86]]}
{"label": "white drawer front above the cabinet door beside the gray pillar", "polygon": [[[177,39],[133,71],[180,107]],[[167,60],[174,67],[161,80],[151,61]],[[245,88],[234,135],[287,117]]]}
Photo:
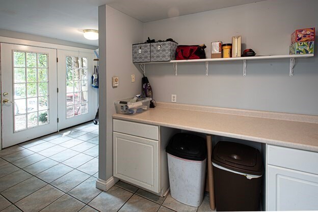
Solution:
{"label": "white drawer front above the cabinet door beside the gray pillar", "polygon": [[113,131],[143,138],[159,140],[159,127],[125,120],[113,120]]}

